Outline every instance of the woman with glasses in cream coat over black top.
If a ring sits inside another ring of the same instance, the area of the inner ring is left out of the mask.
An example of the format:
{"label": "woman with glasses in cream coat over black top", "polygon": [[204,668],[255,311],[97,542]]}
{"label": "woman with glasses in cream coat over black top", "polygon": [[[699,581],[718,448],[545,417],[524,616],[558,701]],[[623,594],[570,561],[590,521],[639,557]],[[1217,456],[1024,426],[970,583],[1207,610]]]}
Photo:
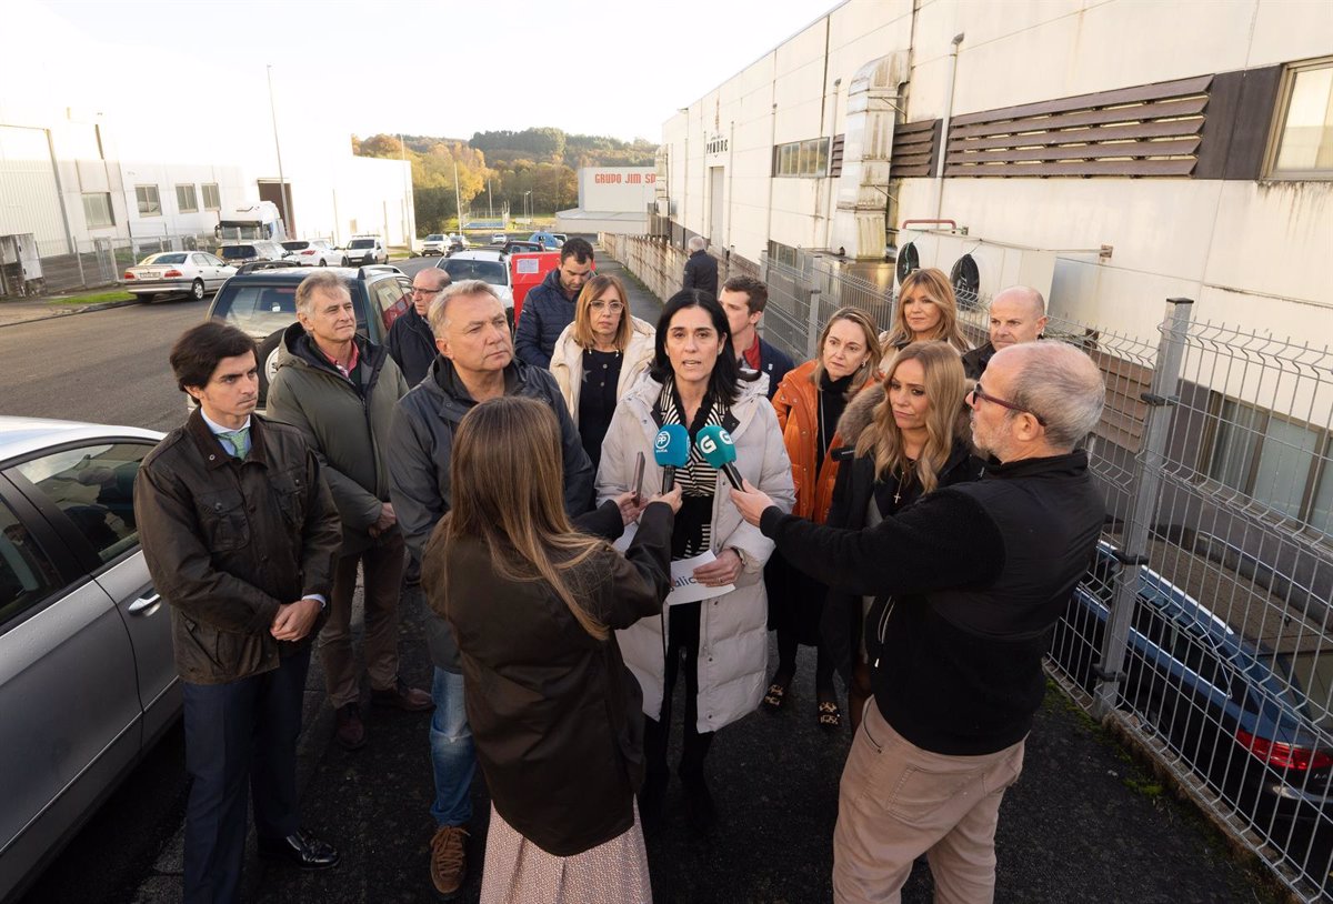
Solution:
{"label": "woman with glasses in cream coat over black top", "polygon": [[593,472],[616,403],[652,363],[653,328],[629,313],[625,284],[615,276],[593,276],[551,355],[551,375],[579,425]]}

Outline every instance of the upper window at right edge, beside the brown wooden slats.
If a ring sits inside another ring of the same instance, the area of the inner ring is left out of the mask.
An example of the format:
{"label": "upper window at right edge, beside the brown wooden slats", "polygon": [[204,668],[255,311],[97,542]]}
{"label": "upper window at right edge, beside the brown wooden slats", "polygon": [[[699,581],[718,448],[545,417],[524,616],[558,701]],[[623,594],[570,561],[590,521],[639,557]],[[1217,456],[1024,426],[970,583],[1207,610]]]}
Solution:
{"label": "upper window at right edge, beside the brown wooden slats", "polygon": [[1269,175],[1333,179],[1333,57],[1290,65],[1277,113]]}

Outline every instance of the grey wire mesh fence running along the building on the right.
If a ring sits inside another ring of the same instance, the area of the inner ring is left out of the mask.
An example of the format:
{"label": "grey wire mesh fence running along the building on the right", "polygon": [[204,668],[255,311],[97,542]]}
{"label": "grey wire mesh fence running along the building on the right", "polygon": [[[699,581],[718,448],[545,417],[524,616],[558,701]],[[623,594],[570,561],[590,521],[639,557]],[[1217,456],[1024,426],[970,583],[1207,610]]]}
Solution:
{"label": "grey wire mesh fence running along the building on the right", "polygon": [[[841,305],[881,328],[893,321],[892,292],[825,259],[764,260],[762,273],[765,337],[797,360],[814,355],[820,327]],[[988,304],[960,304],[974,344],[986,337]],[[1169,301],[1149,337],[1046,327],[1105,377],[1105,413],[1086,448],[1108,508],[1049,669],[1294,897],[1326,900],[1333,352],[1193,323],[1190,308]]]}

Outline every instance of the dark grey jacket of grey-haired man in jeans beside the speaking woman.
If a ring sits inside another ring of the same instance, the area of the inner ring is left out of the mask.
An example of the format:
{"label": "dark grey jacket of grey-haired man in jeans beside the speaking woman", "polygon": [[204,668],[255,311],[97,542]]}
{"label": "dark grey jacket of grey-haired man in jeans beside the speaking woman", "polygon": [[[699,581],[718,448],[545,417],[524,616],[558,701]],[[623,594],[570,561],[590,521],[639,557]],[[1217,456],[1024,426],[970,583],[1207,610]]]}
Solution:
{"label": "dark grey jacket of grey-haired man in jeans beside the speaking woman", "polygon": [[[565,511],[571,516],[588,512],[593,501],[592,463],[584,452],[579,428],[569,417],[556,379],[540,368],[512,361],[505,368],[505,395],[536,399],[556,413],[564,451]],[[399,529],[417,560],[425,552],[435,525],[449,511],[453,433],[463,416],[476,404],[453,369],[453,363],[441,355],[431,365],[427,377],[399,400],[393,413],[393,427],[389,431],[389,497],[399,519]],[[615,508],[611,503],[608,505]],[[619,536],[619,511],[615,521],[615,532],[611,535]],[[608,533],[592,525],[588,529]],[[459,671],[459,648],[443,619],[427,619],[427,644],[432,663],[451,672]]]}

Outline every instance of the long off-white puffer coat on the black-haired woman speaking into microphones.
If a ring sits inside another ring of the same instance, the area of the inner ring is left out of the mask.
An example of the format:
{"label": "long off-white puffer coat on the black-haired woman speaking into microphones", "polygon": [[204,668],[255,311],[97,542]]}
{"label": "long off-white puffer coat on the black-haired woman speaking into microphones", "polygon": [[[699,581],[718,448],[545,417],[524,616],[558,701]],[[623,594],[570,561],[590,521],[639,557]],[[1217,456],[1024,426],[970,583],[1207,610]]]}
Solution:
{"label": "long off-white puffer coat on the black-haired woman speaking into microphones", "polygon": [[[784,512],[796,503],[792,463],[782,444],[777,415],[764,391],[766,380],[741,383],[741,396],[732,405],[736,429],[736,468],[768,493]],[[627,489],[635,472],[635,453],[643,452],[644,491],[661,487],[663,469],[653,459],[659,424],[653,404],[661,384],[645,376],[621,397],[601,447],[597,472],[599,504]],[[709,732],[753,712],[768,680],[768,596],[764,563],[773,541],[741,519],[732,504],[730,484],[721,472],[713,493],[713,552],[736,547],[744,552],[744,569],[736,589],[702,601],[698,625],[698,731]],[[663,705],[666,663],[663,655],[666,617],[640,619],[616,632],[625,664],[644,691],[644,713],[657,719]]]}

